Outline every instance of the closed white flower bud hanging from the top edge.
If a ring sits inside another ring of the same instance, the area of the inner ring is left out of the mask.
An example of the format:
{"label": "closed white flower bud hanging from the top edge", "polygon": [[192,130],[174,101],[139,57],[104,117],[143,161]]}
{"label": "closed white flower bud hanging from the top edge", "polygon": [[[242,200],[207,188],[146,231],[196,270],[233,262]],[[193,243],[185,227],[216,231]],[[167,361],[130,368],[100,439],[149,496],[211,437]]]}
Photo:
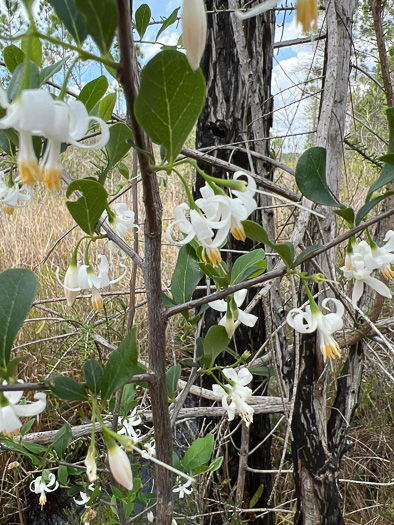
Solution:
{"label": "closed white flower bud hanging from the top edge", "polygon": [[183,0],[182,40],[193,71],[200,65],[207,39],[207,15],[203,0]]}

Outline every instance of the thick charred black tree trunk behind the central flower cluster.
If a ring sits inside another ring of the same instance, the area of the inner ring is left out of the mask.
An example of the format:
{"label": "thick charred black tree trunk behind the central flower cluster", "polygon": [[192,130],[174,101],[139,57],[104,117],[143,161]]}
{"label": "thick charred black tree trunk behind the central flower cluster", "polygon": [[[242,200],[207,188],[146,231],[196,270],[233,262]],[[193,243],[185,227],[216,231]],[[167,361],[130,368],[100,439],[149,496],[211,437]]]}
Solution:
{"label": "thick charred black tree trunk behind the central flower cluster", "polygon": [[[258,2],[252,2],[252,4]],[[210,154],[223,160],[231,160],[240,168],[248,169],[260,177],[270,177],[270,166],[259,158],[253,157],[253,152],[269,156],[269,130],[272,124],[271,72],[274,39],[274,12],[264,16],[252,18],[246,22],[238,20],[227,9],[235,9],[238,4],[234,0],[208,0],[207,11],[215,11],[208,15],[208,38],[206,51],[202,60],[202,70],[207,81],[207,98],[204,109],[197,125],[197,148],[206,148]],[[212,149],[211,149],[212,148]],[[205,164],[201,167],[217,177],[225,173],[211,169]],[[204,184],[202,178],[197,179],[197,190]],[[196,193],[197,193],[196,190]],[[257,197],[259,206],[267,204],[266,198]],[[273,212],[258,210],[253,220],[266,228],[270,235],[275,234]],[[228,248],[236,250],[250,250],[253,243],[240,243],[229,240]],[[239,256],[239,254],[236,254]],[[231,268],[232,256],[227,257],[227,264]],[[248,298],[253,297],[253,292]],[[246,304],[246,302],[245,302]],[[250,329],[241,325],[234,337],[234,344],[241,354],[244,350],[255,351],[265,340],[266,330],[264,314],[261,304],[253,310],[259,320]],[[206,313],[206,326],[217,322],[215,313]],[[225,364],[227,356],[222,360]],[[233,362],[233,359],[231,359]],[[258,381],[255,381],[254,387]],[[268,415],[255,416],[251,426],[249,449],[260,443],[270,430]],[[244,434],[245,435],[245,434]],[[241,443],[241,432],[235,436]],[[242,450],[245,449],[244,440]],[[248,464],[255,469],[269,469],[271,464],[271,441],[268,439],[256,454],[248,458]],[[237,457],[236,453],[232,454]],[[232,484],[237,482],[238,459],[229,462],[229,472]],[[237,496],[243,500],[243,506],[249,506],[250,499],[258,487],[263,484],[263,496],[257,506],[264,507],[267,503],[272,479],[270,474],[252,474],[238,477],[245,480],[244,487],[237,486]],[[245,515],[243,518],[245,519]],[[250,517],[250,519],[253,519]],[[254,521],[271,525],[274,516],[267,515]]]}

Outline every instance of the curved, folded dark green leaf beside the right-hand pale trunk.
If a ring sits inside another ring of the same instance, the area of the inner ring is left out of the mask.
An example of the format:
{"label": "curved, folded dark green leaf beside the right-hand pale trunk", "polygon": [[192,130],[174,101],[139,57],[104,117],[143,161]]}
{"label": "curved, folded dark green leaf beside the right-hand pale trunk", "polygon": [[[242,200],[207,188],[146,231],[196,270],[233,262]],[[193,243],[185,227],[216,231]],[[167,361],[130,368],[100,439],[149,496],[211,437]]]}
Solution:
{"label": "curved, folded dark green leaf beside the right-hand pale trunk", "polygon": [[325,206],[343,207],[331,194],[326,182],[325,148],[314,146],[301,155],[295,179],[300,192],[309,200]]}

